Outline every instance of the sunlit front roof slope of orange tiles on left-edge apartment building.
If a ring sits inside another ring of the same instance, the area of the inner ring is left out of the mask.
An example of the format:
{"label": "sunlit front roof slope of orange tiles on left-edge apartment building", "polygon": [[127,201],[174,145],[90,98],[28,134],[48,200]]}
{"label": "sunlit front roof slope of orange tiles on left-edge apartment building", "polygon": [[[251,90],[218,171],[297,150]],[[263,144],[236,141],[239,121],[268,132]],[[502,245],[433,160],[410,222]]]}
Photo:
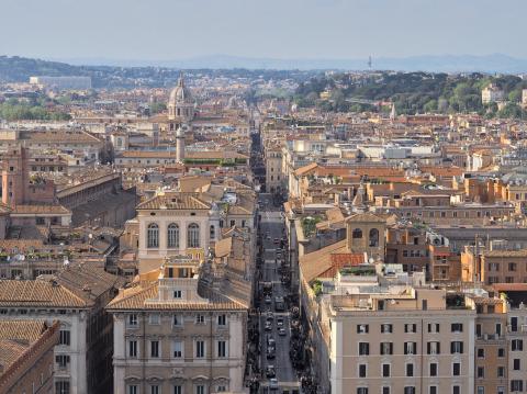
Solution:
{"label": "sunlit front roof slope of orange tiles on left-edge apartment building", "polygon": [[58,284],[44,280],[0,281],[2,307],[87,307],[85,300]]}

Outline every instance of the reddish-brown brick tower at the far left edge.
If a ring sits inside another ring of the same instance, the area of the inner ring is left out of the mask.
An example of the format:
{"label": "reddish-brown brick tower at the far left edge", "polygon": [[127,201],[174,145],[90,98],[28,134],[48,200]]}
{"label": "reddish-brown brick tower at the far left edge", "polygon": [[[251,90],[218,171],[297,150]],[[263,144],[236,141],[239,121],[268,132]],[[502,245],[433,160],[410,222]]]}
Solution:
{"label": "reddish-brown brick tower at the far left edge", "polygon": [[24,147],[10,149],[2,157],[2,202],[9,206],[25,202],[29,183],[29,155]]}

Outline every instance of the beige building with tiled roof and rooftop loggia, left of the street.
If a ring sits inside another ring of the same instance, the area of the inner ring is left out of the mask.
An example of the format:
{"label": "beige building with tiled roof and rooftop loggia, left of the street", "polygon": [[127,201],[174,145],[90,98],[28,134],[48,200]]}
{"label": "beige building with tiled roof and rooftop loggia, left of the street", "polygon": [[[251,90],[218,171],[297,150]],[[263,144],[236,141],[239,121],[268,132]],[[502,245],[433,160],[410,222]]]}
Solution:
{"label": "beige building with tiled roof and rooftop loggia, left of the street", "polygon": [[110,303],[114,394],[244,392],[250,283],[217,270],[171,256]]}

